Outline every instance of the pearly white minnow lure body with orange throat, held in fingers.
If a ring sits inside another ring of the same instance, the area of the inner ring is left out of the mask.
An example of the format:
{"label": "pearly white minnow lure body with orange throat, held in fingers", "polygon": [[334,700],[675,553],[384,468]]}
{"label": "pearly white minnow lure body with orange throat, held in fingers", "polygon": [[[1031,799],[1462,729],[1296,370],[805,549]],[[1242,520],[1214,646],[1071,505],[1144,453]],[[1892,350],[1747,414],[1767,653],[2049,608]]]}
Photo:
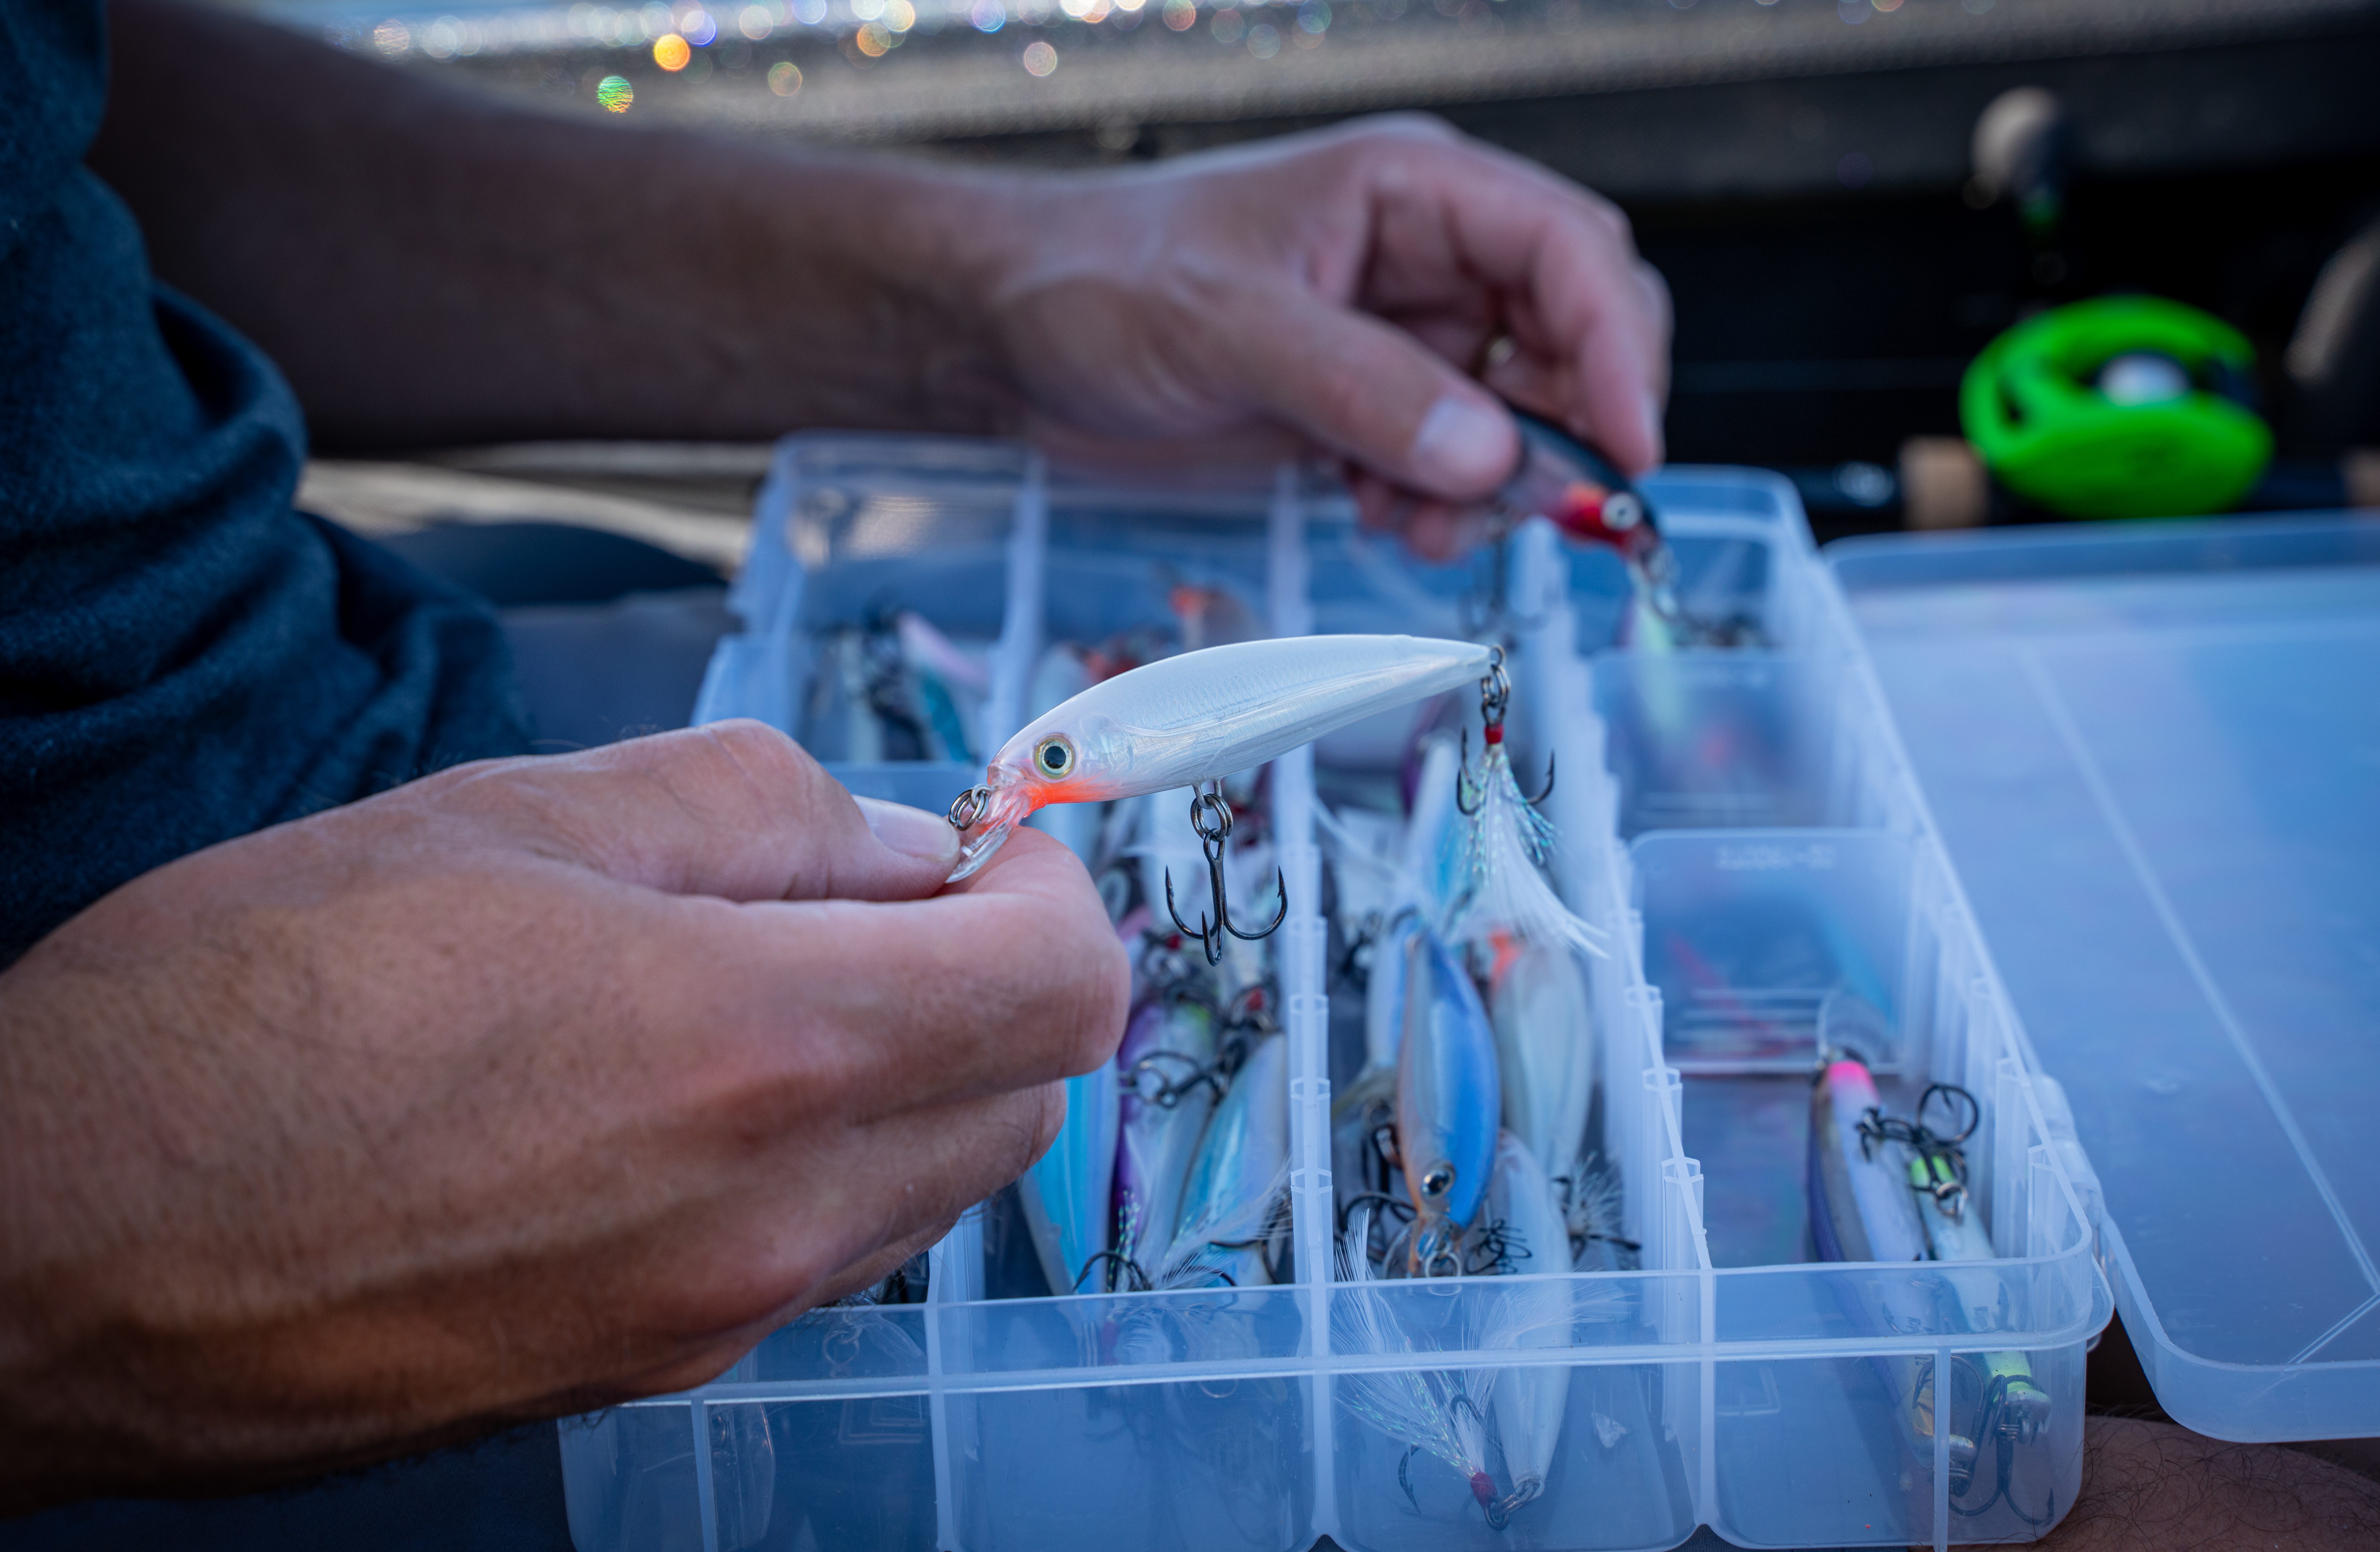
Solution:
{"label": "pearly white minnow lure body with orange throat, held in fingers", "polygon": [[1485,678],[1495,647],[1426,636],[1290,636],[1183,652],[1038,716],[950,805],[973,831],[957,883],[1033,809],[1188,788],[1264,764],[1390,707]]}

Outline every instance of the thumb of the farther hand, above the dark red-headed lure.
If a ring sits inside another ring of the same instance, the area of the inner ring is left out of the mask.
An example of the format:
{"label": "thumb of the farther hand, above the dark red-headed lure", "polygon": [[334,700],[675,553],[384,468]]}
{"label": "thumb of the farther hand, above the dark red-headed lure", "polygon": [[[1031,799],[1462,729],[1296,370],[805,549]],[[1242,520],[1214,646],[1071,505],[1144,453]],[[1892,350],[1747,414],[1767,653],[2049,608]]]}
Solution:
{"label": "thumb of the farther hand, above the dark red-headed lure", "polygon": [[1478,500],[1521,462],[1504,405],[1392,324],[1276,290],[1245,298],[1233,331],[1245,400],[1399,486]]}

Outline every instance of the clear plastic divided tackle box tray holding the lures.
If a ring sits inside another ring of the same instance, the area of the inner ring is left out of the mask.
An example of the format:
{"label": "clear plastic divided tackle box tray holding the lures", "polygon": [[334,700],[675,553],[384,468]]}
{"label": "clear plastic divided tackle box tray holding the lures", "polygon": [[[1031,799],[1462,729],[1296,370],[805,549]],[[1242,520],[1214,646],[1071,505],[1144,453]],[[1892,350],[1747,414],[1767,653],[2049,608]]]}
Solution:
{"label": "clear plastic divided tackle box tray holding the lures", "polygon": [[[1514,745],[1530,774],[1559,771],[1554,883],[1611,945],[1590,969],[1597,1124],[1635,1266],[1335,1281],[1316,793],[1380,752],[1330,738],[1261,788],[1290,900],[1271,952],[1292,1281],[992,1297],[971,1214],[931,1252],[926,1302],[812,1312],[709,1385],[562,1423],[581,1552],[1666,1550],[1697,1526],[1747,1547],[1906,1547],[2056,1523],[2080,1478],[2085,1347],[2111,1312],[2066,1097],[2011,1014],[1792,486],[1671,469],[1647,493],[1687,605],[1756,621],[1766,645],[1616,650],[1614,557],[1535,524],[1497,576],[1423,567],[1292,471],[1185,493],[1054,478],[1002,443],[785,440],[731,595],[743,633],[719,645],[697,721],[807,736],[859,793],[945,807],[1021,724],[1045,640],[1133,628],[1180,586],[1273,636],[1509,631]],[[833,659],[888,609],[973,655],[981,697],[914,757],[852,762],[823,747]],[[1806,1259],[1809,1078],[1844,990],[1871,1009],[1887,1093],[1978,1097],[1971,1185],[1997,1259]],[[1514,1328],[1533,1335],[1492,1335]],[[2004,1354],[2047,1395],[2042,1426],[1954,1471],[1961,1409]],[[1357,1404],[1404,1373],[1557,1385],[1545,1492],[1490,1528],[1461,1476]],[[1933,1426],[1937,1395],[1952,1426]]]}

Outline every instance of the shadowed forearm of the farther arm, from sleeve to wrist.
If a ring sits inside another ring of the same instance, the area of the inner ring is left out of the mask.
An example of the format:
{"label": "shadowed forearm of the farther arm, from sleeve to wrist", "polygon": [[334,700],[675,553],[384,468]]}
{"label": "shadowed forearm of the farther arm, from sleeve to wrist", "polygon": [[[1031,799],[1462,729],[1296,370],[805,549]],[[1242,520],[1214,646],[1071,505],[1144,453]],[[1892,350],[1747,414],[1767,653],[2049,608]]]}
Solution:
{"label": "shadowed forearm of the farther arm, from sleeve to wrist", "polygon": [[981,293],[1023,179],[526,114],[162,0],[112,50],[93,167],[324,445],[1014,424]]}

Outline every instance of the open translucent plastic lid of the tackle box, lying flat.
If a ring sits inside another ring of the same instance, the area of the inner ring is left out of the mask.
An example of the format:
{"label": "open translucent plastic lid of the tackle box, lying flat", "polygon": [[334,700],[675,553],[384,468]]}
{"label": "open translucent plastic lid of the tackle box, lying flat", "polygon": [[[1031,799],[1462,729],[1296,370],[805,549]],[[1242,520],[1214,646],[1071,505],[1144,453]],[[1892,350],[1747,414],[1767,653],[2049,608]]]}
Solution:
{"label": "open translucent plastic lid of the tackle box, lying flat", "polygon": [[2380,1435],[2380,512],[1825,557],[2159,1402]]}

